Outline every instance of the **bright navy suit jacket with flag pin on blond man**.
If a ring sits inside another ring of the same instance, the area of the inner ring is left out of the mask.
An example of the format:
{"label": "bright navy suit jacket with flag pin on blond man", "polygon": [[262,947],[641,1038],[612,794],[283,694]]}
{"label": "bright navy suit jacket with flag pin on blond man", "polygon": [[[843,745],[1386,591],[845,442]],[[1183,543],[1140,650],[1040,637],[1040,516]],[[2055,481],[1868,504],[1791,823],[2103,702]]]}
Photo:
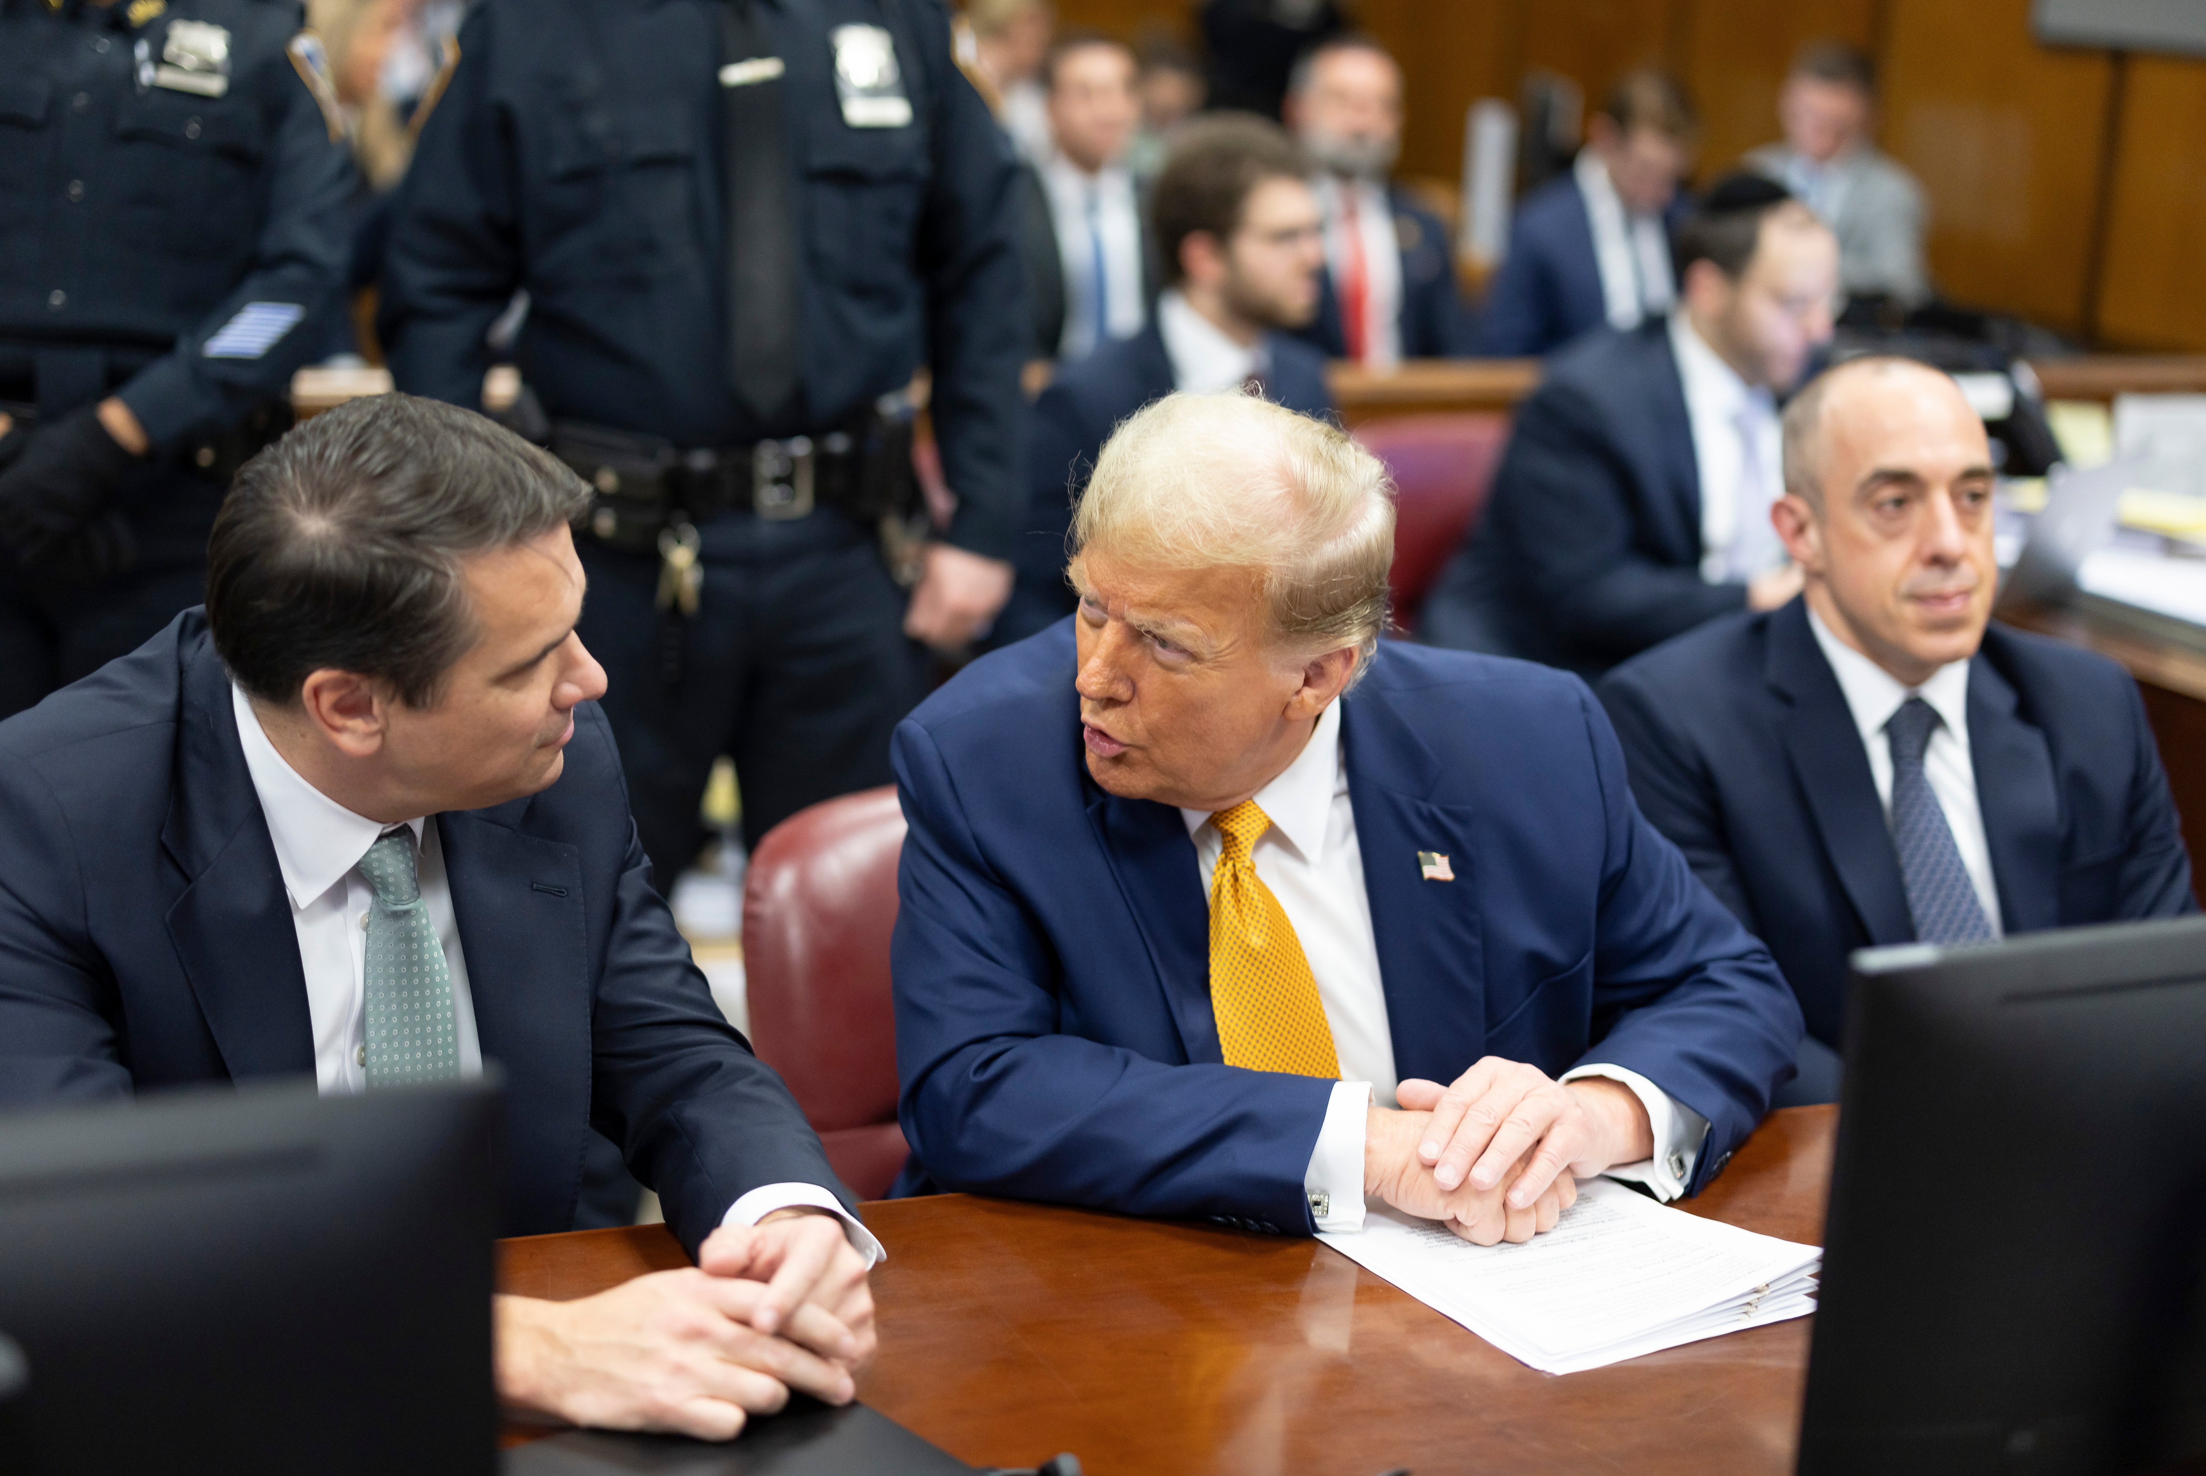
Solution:
{"label": "bright navy suit jacket with flag pin on blond man", "polygon": [[[1308,1233],[1330,1083],[1222,1063],[1209,902],[1180,812],[1090,777],[1072,622],[896,730],[896,1057],[944,1189]],[[1577,680],[1388,642],[1341,708],[1394,1063],[1630,1068],[1705,1114],[1707,1183],[1791,1077],[1769,953],[1632,805]],[[1452,858],[1425,880],[1418,852]]]}

